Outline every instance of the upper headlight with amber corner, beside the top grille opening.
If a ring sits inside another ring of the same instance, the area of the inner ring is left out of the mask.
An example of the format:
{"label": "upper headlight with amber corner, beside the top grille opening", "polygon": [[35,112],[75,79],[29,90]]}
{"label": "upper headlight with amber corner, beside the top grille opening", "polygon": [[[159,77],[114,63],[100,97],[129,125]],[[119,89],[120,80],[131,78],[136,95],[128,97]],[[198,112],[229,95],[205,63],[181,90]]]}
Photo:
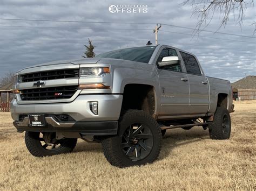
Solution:
{"label": "upper headlight with amber corner, beside the top grille opening", "polygon": [[109,73],[109,67],[86,67],[80,68],[79,77],[103,77]]}

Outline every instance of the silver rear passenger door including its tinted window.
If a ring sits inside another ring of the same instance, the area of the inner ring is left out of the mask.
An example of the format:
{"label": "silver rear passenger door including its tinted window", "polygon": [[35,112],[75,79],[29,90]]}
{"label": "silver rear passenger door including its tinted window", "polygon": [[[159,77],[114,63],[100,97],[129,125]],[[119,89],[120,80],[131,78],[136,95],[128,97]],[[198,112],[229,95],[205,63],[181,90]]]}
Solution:
{"label": "silver rear passenger door including its tinted window", "polygon": [[193,55],[181,51],[180,54],[190,85],[190,114],[206,114],[209,106],[207,79]]}

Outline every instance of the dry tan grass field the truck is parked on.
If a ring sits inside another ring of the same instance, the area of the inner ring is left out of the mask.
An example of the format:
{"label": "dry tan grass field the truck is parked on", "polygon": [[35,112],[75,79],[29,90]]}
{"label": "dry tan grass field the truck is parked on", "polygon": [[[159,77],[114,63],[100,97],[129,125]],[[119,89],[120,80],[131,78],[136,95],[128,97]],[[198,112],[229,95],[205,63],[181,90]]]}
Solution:
{"label": "dry tan grass field the truck is parked on", "polygon": [[231,117],[230,140],[211,140],[198,127],[169,130],[156,162],[120,169],[100,144],[81,140],[70,154],[35,158],[10,113],[0,113],[0,190],[255,190],[256,101],[235,102]]}

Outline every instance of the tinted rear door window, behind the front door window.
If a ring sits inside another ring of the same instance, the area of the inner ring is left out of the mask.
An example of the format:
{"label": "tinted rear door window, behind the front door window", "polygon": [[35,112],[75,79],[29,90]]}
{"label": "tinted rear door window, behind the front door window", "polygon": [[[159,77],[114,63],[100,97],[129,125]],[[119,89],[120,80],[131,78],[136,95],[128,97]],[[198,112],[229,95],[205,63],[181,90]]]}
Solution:
{"label": "tinted rear door window, behind the front door window", "polygon": [[180,52],[180,54],[184,61],[184,65],[186,67],[187,73],[201,75],[201,71],[198,66],[196,58],[194,58],[194,56],[187,54],[185,52]]}

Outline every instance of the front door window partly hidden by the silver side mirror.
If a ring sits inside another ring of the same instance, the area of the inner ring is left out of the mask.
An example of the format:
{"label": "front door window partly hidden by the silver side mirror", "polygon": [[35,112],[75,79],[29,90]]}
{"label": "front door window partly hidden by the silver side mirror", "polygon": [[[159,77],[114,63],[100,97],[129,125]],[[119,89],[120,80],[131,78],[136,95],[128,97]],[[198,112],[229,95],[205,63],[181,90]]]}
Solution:
{"label": "front door window partly hidden by the silver side mirror", "polygon": [[[172,49],[172,48],[164,48],[158,59],[157,59],[157,62],[160,62],[163,60],[164,57],[166,56],[178,56],[177,52],[175,49]],[[180,63],[177,63],[177,65],[167,65],[167,66],[163,66],[161,67],[161,69],[167,69],[167,70],[172,70],[172,71],[176,71],[176,72],[181,72],[182,69],[181,69],[181,66],[180,66]]]}

